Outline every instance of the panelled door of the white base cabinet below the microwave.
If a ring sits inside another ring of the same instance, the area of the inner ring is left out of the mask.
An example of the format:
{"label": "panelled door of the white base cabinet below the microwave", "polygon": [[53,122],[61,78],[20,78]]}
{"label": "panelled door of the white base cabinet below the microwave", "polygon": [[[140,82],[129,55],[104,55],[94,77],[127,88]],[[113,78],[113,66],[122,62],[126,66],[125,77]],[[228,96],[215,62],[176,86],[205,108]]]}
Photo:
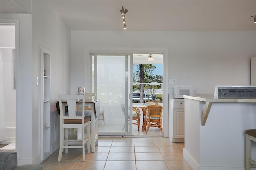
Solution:
{"label": "panelled door of the white base cabinet below the microwave", "polygon": [[184,109],[173,109],[173,124],[174,124],[174,138],[184,138],[185,134],[185,110]]}

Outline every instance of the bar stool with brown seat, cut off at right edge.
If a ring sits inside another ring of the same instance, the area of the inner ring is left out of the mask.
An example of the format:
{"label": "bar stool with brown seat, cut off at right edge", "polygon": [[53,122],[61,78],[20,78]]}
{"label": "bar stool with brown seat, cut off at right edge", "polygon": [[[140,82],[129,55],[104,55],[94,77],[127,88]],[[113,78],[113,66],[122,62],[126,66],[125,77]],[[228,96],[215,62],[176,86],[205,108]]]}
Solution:
{"label": "bar stool with brown seat, cut off at right edge", "polygon": [[256,161],[251,159],[252,141],[256,142],[256,129],[246,130],[246,146],[245,146],[245,170],[250,170],[251,165],[256,165]]}

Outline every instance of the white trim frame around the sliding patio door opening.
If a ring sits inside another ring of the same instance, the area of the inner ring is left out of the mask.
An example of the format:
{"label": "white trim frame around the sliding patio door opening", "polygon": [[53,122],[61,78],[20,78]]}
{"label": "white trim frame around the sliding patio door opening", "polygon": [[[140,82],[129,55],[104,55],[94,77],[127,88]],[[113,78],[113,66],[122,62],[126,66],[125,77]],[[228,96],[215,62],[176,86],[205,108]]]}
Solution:
{"label": "white trim frame around the sliding patio door opening", "polygon": [[84,48],[84,85],[90,87],[90,54],[89,53],[163,53],[163,128],[164,128],[164,137],[169,135],[169,125],[168,125],[168,48],[98,48],[98,47],[89,47]]}

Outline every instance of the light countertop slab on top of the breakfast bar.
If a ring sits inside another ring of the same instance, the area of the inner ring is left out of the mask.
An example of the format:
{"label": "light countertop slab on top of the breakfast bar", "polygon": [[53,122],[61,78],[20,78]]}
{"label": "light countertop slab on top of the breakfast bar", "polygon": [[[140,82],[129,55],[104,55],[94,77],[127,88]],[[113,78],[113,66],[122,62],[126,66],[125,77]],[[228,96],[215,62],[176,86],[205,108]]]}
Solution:
{"label": "light countertop slab on top of the breakfast bar", "polygon": [[229,102],[229,103],[256,103],[256,98],[216,98],[212,94],[198,95],[198,96],[187,96],[184,95],[186,99],[204,101],[204,102]]}

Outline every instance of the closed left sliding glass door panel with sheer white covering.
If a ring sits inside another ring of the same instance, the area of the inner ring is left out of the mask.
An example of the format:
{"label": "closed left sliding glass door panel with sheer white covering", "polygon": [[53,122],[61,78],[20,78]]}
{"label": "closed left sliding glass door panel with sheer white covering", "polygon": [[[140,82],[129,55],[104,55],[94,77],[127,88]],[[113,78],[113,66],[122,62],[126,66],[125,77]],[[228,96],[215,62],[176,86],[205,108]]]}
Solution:
{"label": "closed left sliding glass door panel with sheer white covering", "polygon": [[131,135],[132,53],[94,53],[90,56],[93,61],[92,90],[102,106],[99,135]]}

